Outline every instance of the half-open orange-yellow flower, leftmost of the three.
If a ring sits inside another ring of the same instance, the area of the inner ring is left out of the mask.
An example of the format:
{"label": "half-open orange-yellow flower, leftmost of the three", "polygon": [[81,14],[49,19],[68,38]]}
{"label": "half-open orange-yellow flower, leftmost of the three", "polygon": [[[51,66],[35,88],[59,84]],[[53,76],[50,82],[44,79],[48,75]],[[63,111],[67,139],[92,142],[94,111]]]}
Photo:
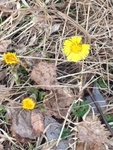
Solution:
{"label": "half-open orange-yellow flower, leftmost of the three", "polygon": [[16,53],[8,52],[3,55],[3,59],[6,64],[14,65],[20,62],[19,58],[17,58]]}

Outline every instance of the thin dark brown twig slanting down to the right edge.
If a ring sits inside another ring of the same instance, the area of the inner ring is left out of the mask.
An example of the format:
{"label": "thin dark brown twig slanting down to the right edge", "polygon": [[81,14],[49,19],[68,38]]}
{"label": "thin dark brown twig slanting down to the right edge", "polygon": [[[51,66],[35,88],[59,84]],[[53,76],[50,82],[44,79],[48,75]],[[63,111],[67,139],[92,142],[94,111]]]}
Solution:
{"label": "thin dark brown twig slanting down to the right edge", "polygon": [[106,127],[109,129],[109,131],[111,132],[111,134],[112,134],[112,136],[113,136],[113,130],[111,129],[111,127],[110,127],[110,125],[108,124],[108,122],[106,121],[106,119],[105,119],[105,117],[104,117],[104,114],[103,114],[103,112],[102,112],[102,110],[101,110],[101,108],[100,108],[98,102],[96,101],[96,99],[95,99],[95,97],[94,97],[94,94],[91,93],[91,91],[90,91],[89,89],[87,89],[87,92],[88,92],[88,94],[90,95],[92,101],[94,102],[94,104],[95,104],[97,110],[99,111],[99,113],[100,113],[100,115],[101,115],[101,117],[102,117],[102,119],[103,119],[103,121],[104,121]]}

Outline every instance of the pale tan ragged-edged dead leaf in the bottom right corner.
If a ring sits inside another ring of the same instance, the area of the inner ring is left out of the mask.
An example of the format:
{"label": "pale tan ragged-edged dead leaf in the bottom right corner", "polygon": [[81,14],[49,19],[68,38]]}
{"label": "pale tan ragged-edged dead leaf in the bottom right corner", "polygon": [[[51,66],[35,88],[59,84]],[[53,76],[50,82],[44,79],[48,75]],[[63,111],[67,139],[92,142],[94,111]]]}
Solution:
{"label": "pale tan ragged-edged dead leaf in the bottom right corner", "polygon": [[79,123],[77,128],[79,141],[87,143],[89,147],[91,147],[90,145],[98,145],[100,147],[103,143],[108,142],[107,137],[109,133],[97,117],[87,117],[87,120]]}

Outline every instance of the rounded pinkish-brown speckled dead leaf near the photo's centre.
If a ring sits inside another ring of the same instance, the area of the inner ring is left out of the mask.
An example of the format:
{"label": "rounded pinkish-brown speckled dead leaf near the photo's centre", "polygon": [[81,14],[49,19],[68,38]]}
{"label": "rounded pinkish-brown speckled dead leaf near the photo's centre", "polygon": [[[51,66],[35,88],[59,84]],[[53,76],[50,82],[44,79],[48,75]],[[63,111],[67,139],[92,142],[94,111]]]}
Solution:
{"label": "rounded pinkish-brown speckled dead leaf near the photo's centre", "polygon": [[46,90],[55,89],[57,84],[55,65],[45,61],[39,62],[31,72],[31,79],[39,85],[39,88]]}

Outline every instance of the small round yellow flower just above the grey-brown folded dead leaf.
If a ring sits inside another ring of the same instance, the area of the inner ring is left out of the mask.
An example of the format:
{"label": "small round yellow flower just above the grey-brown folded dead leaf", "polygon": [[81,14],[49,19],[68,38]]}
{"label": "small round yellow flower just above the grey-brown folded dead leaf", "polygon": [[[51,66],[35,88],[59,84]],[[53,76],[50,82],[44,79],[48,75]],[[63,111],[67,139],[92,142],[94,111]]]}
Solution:
{"label": "small round yellow flower just above the grey-brown folded dead leaf", "polygon": [[33,98],[28,97],[22,100],[22,108],[27,110],[32,110],[36,106],[36,102]]}

